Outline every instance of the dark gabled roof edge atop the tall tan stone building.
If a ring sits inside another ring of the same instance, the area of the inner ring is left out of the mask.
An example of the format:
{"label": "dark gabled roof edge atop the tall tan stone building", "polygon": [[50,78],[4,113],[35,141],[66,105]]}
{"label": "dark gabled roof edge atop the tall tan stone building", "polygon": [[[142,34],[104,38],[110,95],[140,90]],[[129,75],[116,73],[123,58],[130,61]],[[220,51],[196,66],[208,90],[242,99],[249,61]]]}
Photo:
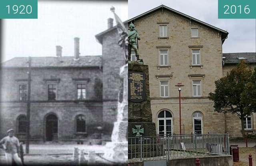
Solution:
{"label": "dark gabled roof edge atop the tall tan stone building", "polygon": [[[216,31],[220,31],[220,32],[223,34],[223,35],[222,35],[222,39],[225,39],[225,38],[228,36],[228,32],[227,32],[227,31],[224,31],[223,29],[220,29],[220,28],[218,28],[218,27],[214,27],[214,26],[212,26],[212,25],[210,25],[210,24],[208,24],[208,23],[205,23],[205,22],[203,22],[203,21],[197,20],[196,18],[193,18],[193,17],[191,17],[191,16],[188,16],[188,15],[182,13],[182,12],[178,12],[177,10],[174,10],[174,9],[172,9],[172,8],[169,8],[169,7],[165,6],[165,5],[160,5],[160,6],[154,8],[154,9],[152,9],[152,10],[149,10],[148,12],[145,12],[145,13],[143,13],[143,14],[140,14],[140,15],[134,17],[134,18],[131,18],[130,20],[128,20],[128,22],[133,21],[133,20],[140,19],[140,18],[142,18],[142,17],[144,17],[144,16],[147,16],[148,14],[151,14],[151,13],[155,12],[156,10],[162,10],[162,9],[166,9],[166,10],[168,10],[168,11],[170,11],[170,12],[173,12],[173,13],[175,13],[175,14],[177,14],[177,15],[183,16],[184,18],[187,18],[187,19],[189,19],[189,20],[191,20],[191,21],[194,21],[194,22],[196,22],[196,23],[200,23],[200,24],[202,24],[202,25],[204,25],[204,26],[206,26],[206,27],[210,27],[210,28],[212,28],[212,29],[215,29]],[[224,42],[224,41],[225,41],[225,40],[223,40],[223,42]]]}

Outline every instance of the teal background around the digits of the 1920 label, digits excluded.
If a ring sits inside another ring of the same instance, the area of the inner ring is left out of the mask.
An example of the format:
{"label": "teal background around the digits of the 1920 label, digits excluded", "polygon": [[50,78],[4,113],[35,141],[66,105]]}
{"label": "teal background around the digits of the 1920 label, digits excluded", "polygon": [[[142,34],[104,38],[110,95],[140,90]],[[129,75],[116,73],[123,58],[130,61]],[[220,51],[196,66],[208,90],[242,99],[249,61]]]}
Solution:
{"label": "teal background around the digits of the 1920 label, digits excluded", "polygon": [[[10,5],[10,14],[8,14],[8,6]],[[20,14],[23,8],[18,8],[18,13],[14,14],[14,10],[12,10],[12,6],[24,5],[25,9],[23,12],[25,14]],[[32,6],[32,13],[26,13],[26,6]],[[0,19],[8,19],[8,18],[37,18],[37,0],[0,0]]]}

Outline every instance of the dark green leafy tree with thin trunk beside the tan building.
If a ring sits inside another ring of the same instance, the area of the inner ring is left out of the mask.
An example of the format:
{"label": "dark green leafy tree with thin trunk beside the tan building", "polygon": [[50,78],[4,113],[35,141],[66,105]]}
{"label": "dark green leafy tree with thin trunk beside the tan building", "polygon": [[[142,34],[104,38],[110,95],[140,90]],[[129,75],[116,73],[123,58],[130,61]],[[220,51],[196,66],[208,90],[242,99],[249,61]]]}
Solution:
{"label": "dark green leafy tree with thin trunk beside the tan building", "polygon": [[[255,109],[250,109],[252,104],[246,102],[249,88],[252,88],[253,84],[255,87],[255,82],[251,82],[252,73],[252,69],[244,61],[240,61],[236,68],[233,68],[220,80],[215,81],[216,90],[209,94],[210,100],[214,101],[214,111],[219,113],[231,112],[238,115],[241,120],[243,138],[245,138],[244,117],[255,112]],[[256,96],[251,94],[250,98],[250,101],[253,102]]]}

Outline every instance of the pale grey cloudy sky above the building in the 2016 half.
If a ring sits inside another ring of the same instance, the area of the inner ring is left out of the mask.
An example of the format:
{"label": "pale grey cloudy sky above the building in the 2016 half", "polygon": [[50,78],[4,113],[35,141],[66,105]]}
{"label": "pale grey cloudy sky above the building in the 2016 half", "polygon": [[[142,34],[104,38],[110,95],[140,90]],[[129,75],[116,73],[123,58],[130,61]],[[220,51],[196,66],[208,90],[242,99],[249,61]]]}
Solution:
{"label": "pale grey cloudy sky above the building in the 2016 half", "polygon": [[218,19],[218,0],[128,0],[128,18],[162,4],[227,30],[229,35],[223,44],[223,53],[256,52],[256,19]]}

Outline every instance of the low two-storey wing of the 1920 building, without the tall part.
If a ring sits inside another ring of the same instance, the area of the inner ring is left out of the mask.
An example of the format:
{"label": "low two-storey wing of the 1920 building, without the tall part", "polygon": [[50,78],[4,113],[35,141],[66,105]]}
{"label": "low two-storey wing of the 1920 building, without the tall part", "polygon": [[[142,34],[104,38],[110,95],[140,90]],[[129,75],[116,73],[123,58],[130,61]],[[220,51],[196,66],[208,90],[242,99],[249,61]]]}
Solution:
{"label": "low two-storey wing of the 1920 building, without the tall part", "polygon": [[[31,58],[32,141],[98,139],[102,99],[95,84],[102,84],[101,59],[79,54],[62,57],[58,50],[56,57]],[[17,57],[2,63],[0,137],[13,127],[25,139],[28,61],[28,57]]]}

